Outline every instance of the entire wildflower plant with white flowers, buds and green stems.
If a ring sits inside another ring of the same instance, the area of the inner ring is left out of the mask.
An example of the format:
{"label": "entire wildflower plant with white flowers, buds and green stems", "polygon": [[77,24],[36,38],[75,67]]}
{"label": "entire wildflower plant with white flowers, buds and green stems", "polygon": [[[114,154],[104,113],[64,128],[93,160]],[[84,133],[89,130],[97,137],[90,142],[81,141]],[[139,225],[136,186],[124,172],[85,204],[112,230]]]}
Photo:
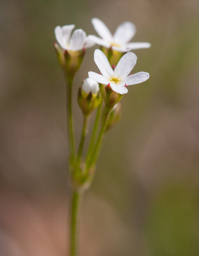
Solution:
{"label": "entire wildflower plant with white flowers, buds and green stems", "polygon": [[[55,28],[57,42],[54,43],[54,48],[66,79],[66,118],[70,147],[68,170],[70,171],[72,190],[70,256],[77,255],[77,221],[80,197],[85,189],[91,186],[105,132],[109,131],[121,118],[121,99],[125,93],[128,93],[128,86],[149,79],[147,72],[129,75],[137,60],[136,55],[129,51],[150,47],[150,44],[145,42],[129,42],[136,31],[133,23],[122,23],[114,35],[99,19],[92,19],[92,24],[101,38],[94,35],[86,36],[82,29],[73,31],[75,28],[73,24]],[[89,71],[89,77],[84,77],[82,85],[78,88],[77,102],[82,110],[83,124],[76,150],[72,111],[73,79],[84,59],[85,49],[95,44],[101,45],[101,50],[94,51],[94,62],[100,73]],[[96,111],[94,111],[95,109]],[[96,112],[94,125],[91,128],[90,141],[85,150],[89,119],[94,112]],[[85,156],[83,155],[84,151],[86,152]]]}

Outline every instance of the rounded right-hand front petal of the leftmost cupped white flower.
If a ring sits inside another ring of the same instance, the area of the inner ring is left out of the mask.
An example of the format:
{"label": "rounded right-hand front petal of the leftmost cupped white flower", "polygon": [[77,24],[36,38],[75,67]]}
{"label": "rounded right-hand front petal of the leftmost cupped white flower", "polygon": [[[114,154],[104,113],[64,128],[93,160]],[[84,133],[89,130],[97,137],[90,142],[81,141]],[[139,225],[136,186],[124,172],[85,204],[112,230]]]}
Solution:
{"label": "rounded right-hand front petal of the leftmost cupped white flower", "polygon": [[73,32],[70,40],[70,50],[71,51],[80,51],[84,47],[86,34],[82,29],[76,29]]}

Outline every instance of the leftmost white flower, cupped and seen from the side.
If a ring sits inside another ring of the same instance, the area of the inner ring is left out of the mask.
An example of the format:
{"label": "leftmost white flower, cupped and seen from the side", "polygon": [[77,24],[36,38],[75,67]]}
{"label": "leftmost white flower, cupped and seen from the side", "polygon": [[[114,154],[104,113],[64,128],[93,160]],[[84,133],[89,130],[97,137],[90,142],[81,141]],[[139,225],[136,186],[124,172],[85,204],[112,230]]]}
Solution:
{"label": "leftmost white flower, cupped and seen from the side", "polygon": [[89,48],[94,45],[82,29],[75,29],[71,36],[73,28],[75,28],[75,25],[57,26],[55,28],[55,38],[63,49],[80,51],[84,47]]}

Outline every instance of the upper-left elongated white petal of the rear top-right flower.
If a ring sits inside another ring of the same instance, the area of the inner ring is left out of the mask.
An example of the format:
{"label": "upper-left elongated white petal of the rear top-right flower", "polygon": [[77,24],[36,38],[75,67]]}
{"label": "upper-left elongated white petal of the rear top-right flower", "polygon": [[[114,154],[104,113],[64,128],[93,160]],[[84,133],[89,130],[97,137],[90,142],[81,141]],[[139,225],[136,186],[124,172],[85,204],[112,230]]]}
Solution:
{"label": "upper-left elongated white petal of the rear top-right flower", "polygon": [[96,32],[101,36],[101,38],[111,41],[112,40],[112,35],[110,33],[110,30],[107,28],[107,26],[102,22],[101,20],[97,18],[93,18],[91,20],[92,25],[94,26],[94,29]]}

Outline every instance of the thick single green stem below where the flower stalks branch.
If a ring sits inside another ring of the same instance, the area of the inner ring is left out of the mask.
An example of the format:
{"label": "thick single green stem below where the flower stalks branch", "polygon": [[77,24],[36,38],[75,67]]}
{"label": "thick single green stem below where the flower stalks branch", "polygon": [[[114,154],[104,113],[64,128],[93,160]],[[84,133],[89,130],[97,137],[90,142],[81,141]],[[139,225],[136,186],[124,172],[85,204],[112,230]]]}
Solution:
{"label": "thick single green stem below where the flower stalks branch", "polygon": [[80,192],[73,190],[70,222],[70,256],[77,256],[77,224]]}

